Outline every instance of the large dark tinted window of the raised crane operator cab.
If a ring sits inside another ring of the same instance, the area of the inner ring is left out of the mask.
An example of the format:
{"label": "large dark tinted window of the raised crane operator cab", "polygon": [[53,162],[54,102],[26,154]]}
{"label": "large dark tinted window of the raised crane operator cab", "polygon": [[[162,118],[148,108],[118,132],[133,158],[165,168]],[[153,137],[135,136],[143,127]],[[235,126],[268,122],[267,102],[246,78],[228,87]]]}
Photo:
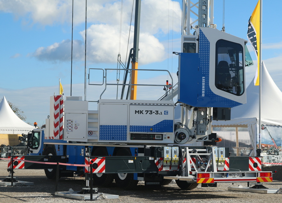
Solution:
{"label": "large dark tinted window of the raised crane operator cab", "polygon": [[238,96],[244,93],[244,58],[241,44],[224,39],[217,41],[215,64],[217,89]]}

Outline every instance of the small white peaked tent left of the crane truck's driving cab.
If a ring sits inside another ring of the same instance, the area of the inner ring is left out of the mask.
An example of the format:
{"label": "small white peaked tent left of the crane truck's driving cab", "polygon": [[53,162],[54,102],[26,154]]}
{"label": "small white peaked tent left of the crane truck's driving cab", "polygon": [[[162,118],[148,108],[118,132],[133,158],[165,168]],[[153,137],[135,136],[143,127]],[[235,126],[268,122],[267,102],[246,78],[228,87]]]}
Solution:
{"label": "small white peaked tent left of the crane truck's driving cab", "polygon": [[5,96],[0,103],[0,134],[27,134],[34,126],[22,121],[11,109]]}

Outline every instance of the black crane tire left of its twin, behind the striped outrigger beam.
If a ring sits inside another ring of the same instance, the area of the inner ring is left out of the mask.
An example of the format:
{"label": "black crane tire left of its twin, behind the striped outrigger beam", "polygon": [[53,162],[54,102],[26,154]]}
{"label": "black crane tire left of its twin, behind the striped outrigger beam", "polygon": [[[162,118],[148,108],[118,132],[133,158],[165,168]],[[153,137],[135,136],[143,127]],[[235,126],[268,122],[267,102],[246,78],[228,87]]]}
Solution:
{"label": "black crane tire left of its twin, behind the striped outrigger beam", "polygon": [[[108,156],[107,149],[104,147],[98,147],[94,149],[92,156]],[[95,185],[107,187],[112,184],[114,179],[113,174],[93,174],[93,182]]]}

